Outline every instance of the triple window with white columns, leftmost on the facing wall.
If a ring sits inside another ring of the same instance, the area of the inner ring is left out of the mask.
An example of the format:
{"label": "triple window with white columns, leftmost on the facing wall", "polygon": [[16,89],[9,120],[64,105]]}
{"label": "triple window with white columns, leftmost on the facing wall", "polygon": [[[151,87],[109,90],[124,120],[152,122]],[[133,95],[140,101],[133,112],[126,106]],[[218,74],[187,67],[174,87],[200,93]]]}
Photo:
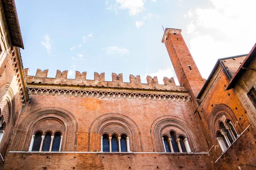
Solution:
{"label": "triple window with white columns, leftmost on the facing wall", "polygon": [[61,141],[61,132],[55,132],[54,135],[52,135],[50,131],[43,134],[41,130],[37,130],[36,133],[32,135],[29,151],[58,152],[61,151]]}

